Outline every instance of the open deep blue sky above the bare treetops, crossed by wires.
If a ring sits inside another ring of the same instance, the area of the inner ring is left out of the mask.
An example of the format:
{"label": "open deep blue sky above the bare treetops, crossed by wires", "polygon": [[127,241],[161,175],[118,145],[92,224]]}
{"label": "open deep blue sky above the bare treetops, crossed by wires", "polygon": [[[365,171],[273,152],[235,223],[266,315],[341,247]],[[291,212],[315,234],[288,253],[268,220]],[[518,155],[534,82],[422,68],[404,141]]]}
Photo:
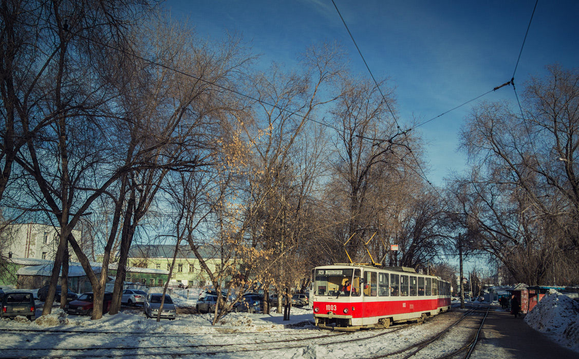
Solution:
{"label": "open deep blue sky above the bare treetops, crossed by wires", "polygon": [[[391,78],[403,128],[413,117],[433,119],[510,81],[535,6],[535,0],[334,1],[373,75]],[[307,46],[329,39],[350,51],[354,72],[368,75],[331,0],[169,0],[164,6],[201,36],[243,34],[264,65],[291,66]],[[538,1],[515,73],[519,97],[525,80],[543,75],[545,65],[579,66],[578,16],[579,1]],[[515,96],[508,86],[483,99]],[[464,169],[457,132],[478,101],[418,128],[433,184],[442,185],[450,169]]]}

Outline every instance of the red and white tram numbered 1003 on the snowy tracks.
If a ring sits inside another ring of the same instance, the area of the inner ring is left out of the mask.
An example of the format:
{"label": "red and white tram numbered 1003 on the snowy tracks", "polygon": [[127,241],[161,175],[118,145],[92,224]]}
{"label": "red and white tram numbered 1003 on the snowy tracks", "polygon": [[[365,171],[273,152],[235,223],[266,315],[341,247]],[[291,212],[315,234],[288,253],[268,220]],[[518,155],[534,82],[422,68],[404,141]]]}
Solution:
{"label": "red and white tram numbered 1003 on the snowy tracks", "polygon": [[313,269],[314,320],[320,328],[387,328],[450,308],[450,283],[412,268],[335,264]]}

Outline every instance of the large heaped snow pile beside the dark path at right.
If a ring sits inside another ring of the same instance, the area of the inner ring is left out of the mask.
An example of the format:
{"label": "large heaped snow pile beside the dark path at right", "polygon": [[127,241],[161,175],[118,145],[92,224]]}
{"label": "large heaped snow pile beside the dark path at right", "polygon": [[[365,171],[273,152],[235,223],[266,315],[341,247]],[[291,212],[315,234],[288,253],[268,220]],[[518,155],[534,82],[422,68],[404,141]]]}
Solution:
{"label": "large heaped snow pile beside the dark path at right", "polygon": [[534,330],[571,350],[579,350],[579,302],[555,290],[528,313],[525,321]]}

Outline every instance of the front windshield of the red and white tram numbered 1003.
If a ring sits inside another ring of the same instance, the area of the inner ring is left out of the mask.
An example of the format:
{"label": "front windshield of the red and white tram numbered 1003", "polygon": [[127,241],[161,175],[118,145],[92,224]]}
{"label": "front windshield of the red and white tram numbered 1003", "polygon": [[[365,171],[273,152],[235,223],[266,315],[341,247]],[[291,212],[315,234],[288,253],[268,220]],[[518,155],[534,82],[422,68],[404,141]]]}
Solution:
{"label": "front windshield of the red and white tram numbered 1003", "polygon": [[[347,291],[350,283],[351,290]],[[360,295],[360,269],[316,269],[316,295]]]}

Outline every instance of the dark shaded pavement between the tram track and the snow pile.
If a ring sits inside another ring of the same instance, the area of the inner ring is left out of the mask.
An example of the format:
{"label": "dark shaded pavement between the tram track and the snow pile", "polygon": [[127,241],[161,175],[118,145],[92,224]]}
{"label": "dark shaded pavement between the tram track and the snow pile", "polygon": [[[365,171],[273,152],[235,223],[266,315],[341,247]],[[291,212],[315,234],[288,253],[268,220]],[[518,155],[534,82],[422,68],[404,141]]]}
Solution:
{"label": "dark shaded pavement between the tram track and the snow pile", "polygon": [[501,309],[490,309],[471,358],[488,359],[577,359],[578,353],[552,342],[547,336]]}

